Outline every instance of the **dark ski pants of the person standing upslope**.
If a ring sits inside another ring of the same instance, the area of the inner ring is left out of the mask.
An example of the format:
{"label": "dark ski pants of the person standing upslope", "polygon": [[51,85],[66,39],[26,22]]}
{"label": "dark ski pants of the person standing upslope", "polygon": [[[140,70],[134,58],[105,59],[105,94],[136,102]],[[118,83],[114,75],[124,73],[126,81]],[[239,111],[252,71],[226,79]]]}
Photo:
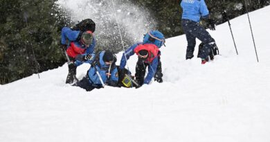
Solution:
{"label": "dark ski pants of the person standing upslope", "polygon": [[204,47],[201,50],[199,57],[206,59],[211,51],[211,44],[215,43],[208,31],[204,29],[198,22],[182,19],[183,31],[186,33],[186,39],[188,41],[188,47],[186,50],[186,59],[194,57],[193,52],[196,46],[196,38],[204,43]]}

